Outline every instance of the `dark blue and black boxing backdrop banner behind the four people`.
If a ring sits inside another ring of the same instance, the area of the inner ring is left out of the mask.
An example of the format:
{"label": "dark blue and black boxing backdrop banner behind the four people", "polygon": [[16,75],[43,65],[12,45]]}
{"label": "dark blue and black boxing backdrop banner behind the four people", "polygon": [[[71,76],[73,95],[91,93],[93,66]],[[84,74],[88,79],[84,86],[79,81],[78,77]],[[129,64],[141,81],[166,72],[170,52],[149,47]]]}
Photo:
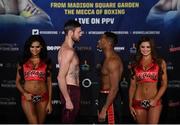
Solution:
{"label": "dark blue and black boxing backdrop banner behind the four people", "polygon": [[[161,2],[161,5],[160,5]],[[172,6],[171,6],[172,5]],[[128,109],[129,65],[138,39],[154,39],[167,63],[168,89],[163,96],[160,123],[180,123],[180,2],[179,0],[0,0],[0,123],[27,123],[15,78],[26,39],[40,34],[53,62],[53,112],[46,123],[60,123],[61,102],[57,53],[69,19],[82,24],[75,49],[80,58],[81,109],[77,123],[96,123],[102,52],[96,49],[106,31],[118,35],[116,52],[124,62],[120,84],[122,123],[134,123]]]}

